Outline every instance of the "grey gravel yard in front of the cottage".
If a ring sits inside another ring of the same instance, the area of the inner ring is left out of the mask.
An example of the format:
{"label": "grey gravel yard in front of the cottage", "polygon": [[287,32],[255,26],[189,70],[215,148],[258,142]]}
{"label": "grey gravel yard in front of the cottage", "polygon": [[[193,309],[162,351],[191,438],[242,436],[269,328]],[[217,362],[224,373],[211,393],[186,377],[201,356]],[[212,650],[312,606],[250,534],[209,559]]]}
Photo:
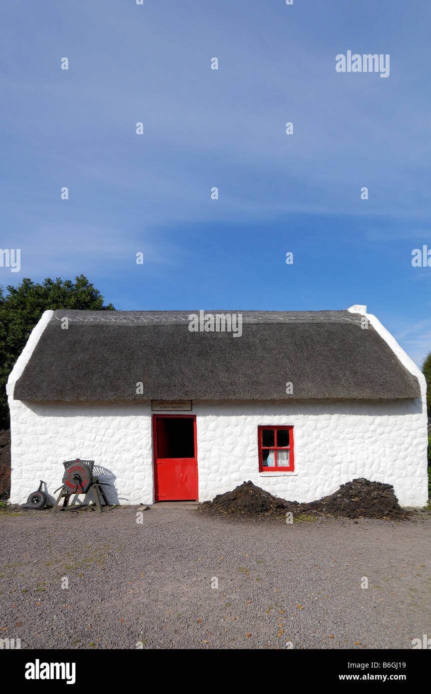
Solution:
{"label": "grey gravel yard in front of the cottage", "polygon": [[137,507],[0,513],[1,637],[22,648],[361,650],[431,636],[430,514],[288,525],[183,502],[136,519]]}

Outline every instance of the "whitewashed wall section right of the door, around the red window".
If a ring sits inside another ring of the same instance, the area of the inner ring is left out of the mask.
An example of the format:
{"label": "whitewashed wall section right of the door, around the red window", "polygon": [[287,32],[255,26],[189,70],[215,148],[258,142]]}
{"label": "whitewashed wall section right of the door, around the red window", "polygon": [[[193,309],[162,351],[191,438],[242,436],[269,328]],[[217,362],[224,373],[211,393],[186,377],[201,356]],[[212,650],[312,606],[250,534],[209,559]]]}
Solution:
{"label": "whitewashed wall section right of the door, around the red window", "polygon": [[[244,480],[276,496],[312,501],[355,477],[394,484],[401,505],[428,498],[426,423],[408,403],[196,405],[199,499]],[[294,425],[294,473],[259,473],[257,425]]]}

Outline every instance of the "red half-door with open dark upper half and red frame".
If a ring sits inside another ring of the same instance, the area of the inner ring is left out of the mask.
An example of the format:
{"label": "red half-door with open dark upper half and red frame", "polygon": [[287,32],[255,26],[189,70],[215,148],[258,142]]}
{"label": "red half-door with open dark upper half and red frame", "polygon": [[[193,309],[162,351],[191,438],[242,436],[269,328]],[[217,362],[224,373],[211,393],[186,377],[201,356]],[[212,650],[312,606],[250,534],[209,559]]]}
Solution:
{"label": "red half-door with open dark upper half and red frame", "polygon": [[153,416],[155,500],[197,500],[196,417]]}

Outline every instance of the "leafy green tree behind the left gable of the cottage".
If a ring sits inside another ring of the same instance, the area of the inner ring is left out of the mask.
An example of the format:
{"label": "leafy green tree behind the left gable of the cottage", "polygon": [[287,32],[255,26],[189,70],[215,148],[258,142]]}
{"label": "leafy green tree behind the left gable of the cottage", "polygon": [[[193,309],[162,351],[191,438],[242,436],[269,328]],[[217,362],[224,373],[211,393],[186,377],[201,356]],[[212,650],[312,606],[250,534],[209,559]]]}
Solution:
{"label": "leafy green tree behind the left gable of the cottage", "polygon": [[56,309],[114,310],[112,304],[103,305],[100,291],[83,275],[75,282],[47,278],[42,284],[24,278],[17,287],[6,289],[7,294],[0,286],[0,428],[9,426],[8,376],[42,313]]}

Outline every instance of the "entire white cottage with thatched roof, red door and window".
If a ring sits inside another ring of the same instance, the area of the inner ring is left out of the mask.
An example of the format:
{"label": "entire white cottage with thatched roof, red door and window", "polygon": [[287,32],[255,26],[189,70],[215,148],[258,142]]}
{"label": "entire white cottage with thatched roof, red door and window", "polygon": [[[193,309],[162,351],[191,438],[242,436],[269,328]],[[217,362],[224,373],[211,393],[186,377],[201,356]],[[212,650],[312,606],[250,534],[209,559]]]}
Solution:
{"label": "entire white cottage with thatched roof, red door and window", "polygon": [[62,461],[81,458],[121,504],[204,501],[244,480],[307,502],[367,477],[423,506],[425,390],[365,306],[46,311],[8,380],[11,501],[40,479],[52,495]]}

